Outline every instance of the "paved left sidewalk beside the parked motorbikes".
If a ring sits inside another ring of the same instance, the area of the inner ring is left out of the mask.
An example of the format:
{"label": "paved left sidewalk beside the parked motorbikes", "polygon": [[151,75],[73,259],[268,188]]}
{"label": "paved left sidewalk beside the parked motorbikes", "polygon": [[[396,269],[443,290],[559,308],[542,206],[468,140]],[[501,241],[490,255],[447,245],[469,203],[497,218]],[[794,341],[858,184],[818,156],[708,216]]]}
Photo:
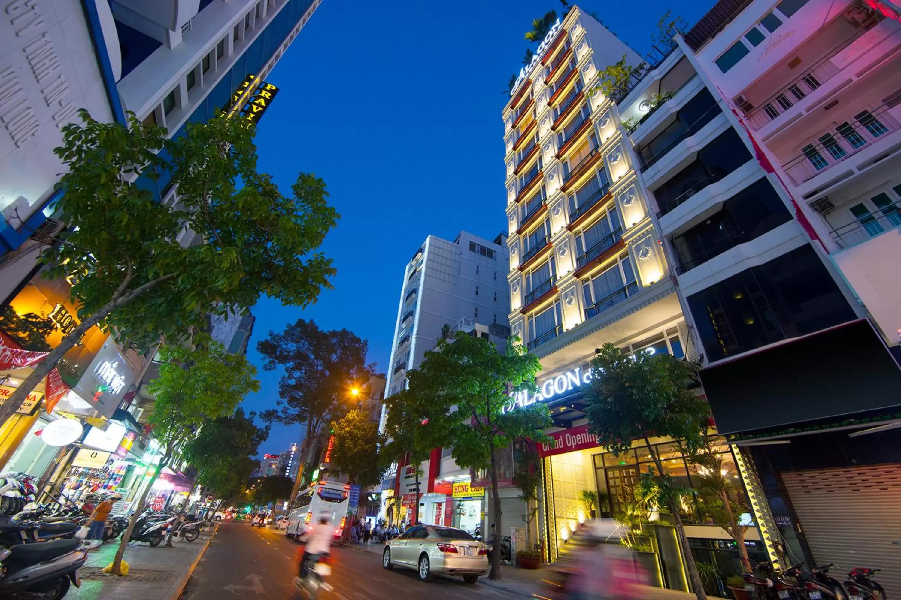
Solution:
{"label": "paved left sidewalk beside the parked motorbikes", "polygon": [[66,600],[177,600],[187,580],[212,542],[215,528],[202,531],[194,542],[176,542],[174,548],[150,548],[132,542],[125,549],[126,577],[107,575],[103,568],[113,562],[119,540],[111,540],[87,553],[85,566],[78,569],[81,587],[69,588]]}

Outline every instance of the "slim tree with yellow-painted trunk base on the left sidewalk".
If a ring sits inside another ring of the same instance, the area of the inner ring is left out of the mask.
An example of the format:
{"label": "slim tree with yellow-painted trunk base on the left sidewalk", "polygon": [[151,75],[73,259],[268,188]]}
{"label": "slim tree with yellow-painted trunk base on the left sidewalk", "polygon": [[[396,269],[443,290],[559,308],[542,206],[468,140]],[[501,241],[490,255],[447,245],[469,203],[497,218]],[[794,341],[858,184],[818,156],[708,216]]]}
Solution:
{"label": "slim tree with yellow-painted trunk base on the left sidewalk", "polygon": [[163,455],[115,553],[116,575],[122,574],[125,546],[159,471],[207,419],[232,415],[246,394],[259,390],[259,381],[254,379],[257,370],[247,358],[243,354],[228,354],[222,344],[205,334],[196,335],[192,345],[162,345],[159,358],[159,377],[150,381],[147,388],[154,396],[150,425]]}

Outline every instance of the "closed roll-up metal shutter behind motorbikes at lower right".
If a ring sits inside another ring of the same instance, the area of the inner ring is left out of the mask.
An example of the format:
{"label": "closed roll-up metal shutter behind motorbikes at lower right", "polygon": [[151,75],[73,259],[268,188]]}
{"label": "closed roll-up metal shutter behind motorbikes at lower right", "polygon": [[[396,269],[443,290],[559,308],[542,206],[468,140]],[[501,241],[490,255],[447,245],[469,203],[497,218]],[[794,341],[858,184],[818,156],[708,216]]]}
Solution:
{"label": "closed roll-up metal shutter behind motorbikes at lower right", "polygon": [[901,597],[901,464],[782,473],[817,566],[855,567]]}

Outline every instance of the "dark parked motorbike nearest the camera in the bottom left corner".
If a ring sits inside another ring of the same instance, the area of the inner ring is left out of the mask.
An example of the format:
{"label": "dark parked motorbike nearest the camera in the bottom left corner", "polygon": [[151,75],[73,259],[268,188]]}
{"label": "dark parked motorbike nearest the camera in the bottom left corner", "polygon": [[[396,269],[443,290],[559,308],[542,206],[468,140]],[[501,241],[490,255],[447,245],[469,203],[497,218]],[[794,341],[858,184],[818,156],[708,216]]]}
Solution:
{"label": "dark parked motorbike nearest the camera in the bottom left corner", "polygon": [[14,546],[0,551],[0,597],[60,600],[69,587],[81,587],[78,568],[87,552],[78,540]]}

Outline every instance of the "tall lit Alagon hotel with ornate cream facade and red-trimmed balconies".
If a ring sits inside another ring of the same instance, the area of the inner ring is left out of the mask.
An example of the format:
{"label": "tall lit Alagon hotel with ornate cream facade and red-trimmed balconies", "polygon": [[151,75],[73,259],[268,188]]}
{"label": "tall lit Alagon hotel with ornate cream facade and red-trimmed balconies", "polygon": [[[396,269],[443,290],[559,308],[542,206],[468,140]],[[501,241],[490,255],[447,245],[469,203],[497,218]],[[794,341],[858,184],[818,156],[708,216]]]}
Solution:
{"label": "tall lit Alagon hotel with ornate cream facade and red-trimmed balconies", "polygon": [[[539,535],[532,539],[542,540],[547,560],[556,560],[587,518],[578,499],[582,490],[609,498],[613,504],[601,514],[610,515],[646,469],[647,452],[614,457],[587,435],[580,389],[590,381],[596,348],[609,342],[624,354],[697,358],[618,98],[587,93],[598,84],[598,71],[623,55],[632,66],[651,60],[573,7],[523,69],[502,115],[510,326],[542,362],[538,393],[516,396],[513,409],[545,403],[554,425],[547,433],[559,438],[554,449],[539,449],[544,499]],[[675,444],[658,442],[674,476],[688,483],[688,465]],[[524,512],[504,508],[506,515]],[[696,524],[693,537],[723,537],[696,517],[683,519]],[[523,527],[518,521],[505,528]],[[675,548],[668,535],[661,531],[661,547]],[[658,574],[660,585],[687,589],[675,562],[661,563]]]}

